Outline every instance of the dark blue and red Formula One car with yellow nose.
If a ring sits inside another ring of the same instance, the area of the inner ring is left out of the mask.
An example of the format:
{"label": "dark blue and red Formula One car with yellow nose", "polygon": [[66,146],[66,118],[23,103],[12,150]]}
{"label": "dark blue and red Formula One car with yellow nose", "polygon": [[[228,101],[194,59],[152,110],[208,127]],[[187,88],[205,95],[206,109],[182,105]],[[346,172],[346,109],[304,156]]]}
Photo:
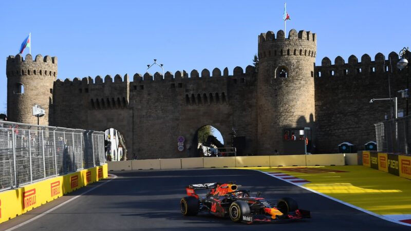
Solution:
{"label": "dark blue and red Formula One car with yellow nose", "polygon": [[[207,190],[206,197],[199,197],[196,190]],[[288,222],[311,218],[310,211],[298,209],[297,202],[282,198],[276,204],[260,197],[250,197],[250,191],[238,190],[230,183],[191,184],[186,187],[188,197],[180,201],[184,216],[195,216],[199,212],[217,217],[230,217],[234,222]]]}

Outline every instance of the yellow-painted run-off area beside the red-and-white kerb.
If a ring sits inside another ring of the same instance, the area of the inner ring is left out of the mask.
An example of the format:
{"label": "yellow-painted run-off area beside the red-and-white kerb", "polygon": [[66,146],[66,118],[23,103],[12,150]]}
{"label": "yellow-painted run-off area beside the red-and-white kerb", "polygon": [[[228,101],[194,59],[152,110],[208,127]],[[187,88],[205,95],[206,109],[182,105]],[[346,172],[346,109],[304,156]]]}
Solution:
{"label": "yellow-painted run-off area beside the red-and-white kerb", "polygon": [[[286,168],[288,168],[286,170]],[[299,168],[308,171],[298,171]],[[310,181],[304,187],[380,215],[411,214],[411,180],[365,166],[252,168]],[[294,171],[293,169],[296,169]],[[310,172],[309,169],[334,170]]]}

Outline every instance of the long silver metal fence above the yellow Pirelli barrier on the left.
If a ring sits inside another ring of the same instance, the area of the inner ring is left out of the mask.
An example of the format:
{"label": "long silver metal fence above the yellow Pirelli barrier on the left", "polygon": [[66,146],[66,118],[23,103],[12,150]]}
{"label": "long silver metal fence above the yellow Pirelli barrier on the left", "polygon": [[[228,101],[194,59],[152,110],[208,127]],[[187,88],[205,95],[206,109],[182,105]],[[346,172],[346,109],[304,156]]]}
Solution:
{"label": "long silver metal fence above the yellow Pirelli barrier on the left", "polygon": [[0,191],[104,163],[104,132],[0,121]]}

